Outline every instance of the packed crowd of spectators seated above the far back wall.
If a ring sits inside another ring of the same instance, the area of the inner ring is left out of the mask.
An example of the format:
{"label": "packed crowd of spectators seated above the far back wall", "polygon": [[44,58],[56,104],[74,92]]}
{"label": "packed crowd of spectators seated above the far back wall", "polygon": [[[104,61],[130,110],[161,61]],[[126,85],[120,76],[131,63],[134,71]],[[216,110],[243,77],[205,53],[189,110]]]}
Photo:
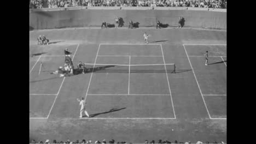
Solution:
{"label": "packed crowd of spectators seated above the far back wall", "polygon": [[200,7],[226,9],[226,0],[30,0],[30,8],[67,7]]}

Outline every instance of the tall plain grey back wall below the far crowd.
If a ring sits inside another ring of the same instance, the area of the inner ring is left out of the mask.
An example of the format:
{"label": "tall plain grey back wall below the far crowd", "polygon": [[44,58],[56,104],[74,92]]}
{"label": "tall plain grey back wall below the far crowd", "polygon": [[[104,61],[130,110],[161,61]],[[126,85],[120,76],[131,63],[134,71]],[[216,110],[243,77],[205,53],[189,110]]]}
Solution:
{"label": "tall plain grey back wall below the far crowd", "polygon": [[30,9],[30,29],[66,27],[101,27],[102,21],[114,24],[115,17],[123,18],[124,27],[129,21],[139,22],[139,27],[152,27],[159,20],[169,27],[178,26],[178,17],[185,19],[184,27],[226,29],[226,10],[195,9],[120,9],[120,8],[59,8]]}

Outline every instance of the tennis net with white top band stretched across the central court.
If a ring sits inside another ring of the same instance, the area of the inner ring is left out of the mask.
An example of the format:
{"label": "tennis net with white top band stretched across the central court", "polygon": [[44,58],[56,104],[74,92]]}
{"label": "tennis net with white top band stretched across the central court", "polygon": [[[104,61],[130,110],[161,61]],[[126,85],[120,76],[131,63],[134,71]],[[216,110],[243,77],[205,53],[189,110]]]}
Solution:
{"label": "tennis net with white top band stretched across the central court", "polygon": [[172,64],[85,64],[88,71],[94,73],[176,73]]}

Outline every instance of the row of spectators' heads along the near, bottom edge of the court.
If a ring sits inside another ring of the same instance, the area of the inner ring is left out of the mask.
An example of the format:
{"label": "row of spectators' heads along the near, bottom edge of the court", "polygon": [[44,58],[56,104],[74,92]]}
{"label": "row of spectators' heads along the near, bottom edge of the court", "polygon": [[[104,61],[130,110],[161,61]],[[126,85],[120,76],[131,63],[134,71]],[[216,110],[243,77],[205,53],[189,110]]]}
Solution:
{"label": "row of spectators' heads along the near, bottom edge of the court", "polygon": [[[69,141],[69,140],[67,140],[67,141],[58,141],[58,142],[56,140],[53,140],[52,142],[50,140],[46,140],[45,142],[43,142],[42,140],[39,140],[38,142],[36,142],[35,140],[32,140],[30,143],[126,143],[126,142],[125,141],[115,142],[115,140],[112,139],[109,142],[107,142],[106,140],[103,140],[102,142],[100,142],[98,140],[95,141],[95,142],[92,142],[91,140],[89,140],[89,141],[86,141],[86,140]],[[144,143],[191,143],[191,142],[190,141],[188,141],[188,142],[178,142],[177,140],[175,140],[174,142],[171,142],[171,141],[168,141],[168,140],[164,140],[164,141],[159,140],[158,142],[155,142],[154,140],[152,140],[152,141],[149,142],[148,140],[146,140]],[[203,143],[203,142],[201,142],[201,141],[196,142],[196,144],[200,144],[200,143]],[[210,142],[206,141],[205,143],[210,143]],[[214,142],[211,142],[211,143],[218,143],[218,142],[214,141]],[[224,142],[219,142],[219,143],[224,143]]]}

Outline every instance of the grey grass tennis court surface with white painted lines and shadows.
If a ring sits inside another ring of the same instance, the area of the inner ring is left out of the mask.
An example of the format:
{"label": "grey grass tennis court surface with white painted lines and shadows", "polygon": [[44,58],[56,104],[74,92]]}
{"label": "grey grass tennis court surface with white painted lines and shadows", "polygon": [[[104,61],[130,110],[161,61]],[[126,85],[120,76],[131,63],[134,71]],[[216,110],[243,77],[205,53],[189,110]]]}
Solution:
{"label": "grey grass tennis court surface with white painted lines and shadows", "polygon": [[[226,45],[222,41],[226,33],[196,30],[202,36],[214,35],[211,39],[202,37],[200,42],[199,36],[191,39],[193,29],[148,29],[153,36],[144,44],[139,36],[129,39],[122,34],[139,35],[141,29],[113,29],[114,35],[107,29],[81,29],[78,34],[83,35],[81,31],[99,36],[92,35],[96,41],[90,42],[73,40],[53,30],[40,33],[63,42],[39,46],[30,41],[32,136],[129,142],[172,138],[226,141]],[[31,32],[31,39],[38,33]],[[105,39],[102,35],[109,36]],[[74,66],[79,61],[87,63],[89,73],[68,77],[51,74],[63,66],[66,48],[73,52]],[[206,50],[210,57],[207,66]],[[82,97],[88,103],[90,118],[79,118],[76,99]],[[47,134],[37,133],[39,129]],[[65,129],[73,129],[74,134]]]}

